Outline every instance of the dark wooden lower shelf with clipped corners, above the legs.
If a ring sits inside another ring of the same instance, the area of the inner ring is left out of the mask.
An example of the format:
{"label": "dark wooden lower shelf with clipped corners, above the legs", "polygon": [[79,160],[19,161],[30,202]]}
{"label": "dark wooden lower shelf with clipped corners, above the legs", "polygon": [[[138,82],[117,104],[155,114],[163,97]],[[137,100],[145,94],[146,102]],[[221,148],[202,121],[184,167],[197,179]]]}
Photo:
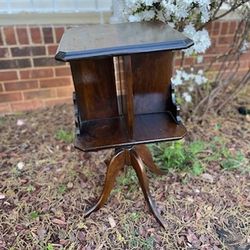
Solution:
{"label": "dark wooden lower shelf with clipped corners, above the legs", "polygon": [[185,136],[183,124],[176,124],[171,113],[135,115],[133,136],[129,137],[124,117],[86,121],[75,147],[94,151],[135,144],[178,140]]}

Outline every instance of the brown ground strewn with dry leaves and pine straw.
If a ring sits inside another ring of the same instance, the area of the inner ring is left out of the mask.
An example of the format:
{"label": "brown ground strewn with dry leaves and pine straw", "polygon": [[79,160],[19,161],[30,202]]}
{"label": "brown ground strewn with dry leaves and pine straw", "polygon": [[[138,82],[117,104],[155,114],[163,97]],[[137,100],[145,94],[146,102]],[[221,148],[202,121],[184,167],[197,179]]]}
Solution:
{"label": "brown ground strewn with dry leaves and pine straw", "polygon": [[0,118],[0,249],[250,249],[246,116],[235,109],[203,125],[186,124],[186,143],[219,137],[229,151],[243,151],[239,168],[223,169],[215,158],[200,175],[148,173],[166,230],[150,214],[132,171],[121,173],[102,209],[83,218],[113,152],[74,149],[73,120],[71,105]]}

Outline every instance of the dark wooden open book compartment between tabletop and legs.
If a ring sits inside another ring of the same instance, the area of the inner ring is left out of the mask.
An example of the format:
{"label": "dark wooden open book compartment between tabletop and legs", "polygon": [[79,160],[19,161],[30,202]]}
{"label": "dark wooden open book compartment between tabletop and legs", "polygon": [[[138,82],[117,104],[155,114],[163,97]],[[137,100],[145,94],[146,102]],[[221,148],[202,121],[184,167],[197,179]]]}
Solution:
{"label": "dark wooden open book compartment between tabletop and legs", "polygon": [[172,52],[118,60],[120,96],[111,58],[71,62],[79,111],[76,147],[92,151],[181,139],[186,129],[171,87]]}

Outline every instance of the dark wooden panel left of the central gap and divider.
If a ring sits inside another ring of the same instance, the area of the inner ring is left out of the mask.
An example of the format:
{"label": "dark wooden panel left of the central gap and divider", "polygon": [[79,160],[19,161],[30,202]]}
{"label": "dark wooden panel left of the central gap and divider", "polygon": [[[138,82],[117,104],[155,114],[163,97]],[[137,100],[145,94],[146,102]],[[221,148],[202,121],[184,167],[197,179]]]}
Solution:
{"label": "dark wooden panel left of the central gap and divider", "polygon": [[70,62],[81,120],[118,115],[112,58]]}

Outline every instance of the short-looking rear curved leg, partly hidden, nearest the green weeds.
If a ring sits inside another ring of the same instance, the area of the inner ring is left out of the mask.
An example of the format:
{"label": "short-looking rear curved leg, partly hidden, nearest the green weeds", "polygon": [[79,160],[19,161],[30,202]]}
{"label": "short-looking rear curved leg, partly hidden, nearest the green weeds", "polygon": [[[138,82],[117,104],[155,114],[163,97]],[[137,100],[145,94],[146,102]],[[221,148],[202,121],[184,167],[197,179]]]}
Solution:
{"label": "short-looking rear curved leg, partly hidden, nearest the green weeds", "polygon": [[137,145],[134,147],[137,154],[140,156],[144,164],[149,168],[149,170],[158,175],[167,174],[166,171],[161,170],[157,165],[155,165],[151,152],[146,145]]}

